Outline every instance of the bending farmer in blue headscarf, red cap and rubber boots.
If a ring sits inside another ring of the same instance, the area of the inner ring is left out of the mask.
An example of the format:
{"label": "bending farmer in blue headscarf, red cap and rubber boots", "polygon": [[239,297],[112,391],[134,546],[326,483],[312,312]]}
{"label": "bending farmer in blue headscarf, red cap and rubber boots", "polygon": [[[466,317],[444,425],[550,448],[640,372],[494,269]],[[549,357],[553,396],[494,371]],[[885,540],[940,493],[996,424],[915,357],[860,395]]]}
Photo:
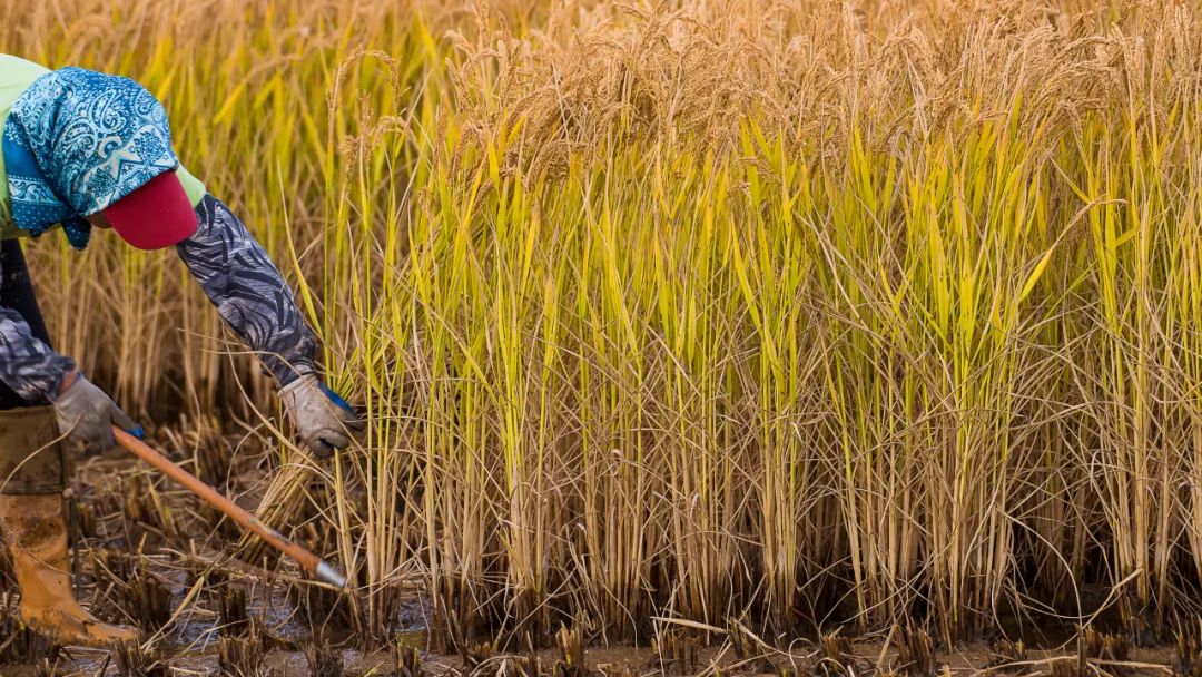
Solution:
{"label": "bending farmer in blue headscarf, red cap and rubber boots", "polygon": [[0,533],[16,564],[20,614],[61,645],[135,640],[75,599],[67,559],[63,435],[94,450],[111,426],[141,428],[50,346],[20,237],[61,228],[84,249],[112,228],[137,249],[174,247],[218,313],[274,375],[303,441],[319,455],[359,423],[326,388],[316,342],[267,253],[175,159],[163,107],[137,83],[48,71],[0,54]]}

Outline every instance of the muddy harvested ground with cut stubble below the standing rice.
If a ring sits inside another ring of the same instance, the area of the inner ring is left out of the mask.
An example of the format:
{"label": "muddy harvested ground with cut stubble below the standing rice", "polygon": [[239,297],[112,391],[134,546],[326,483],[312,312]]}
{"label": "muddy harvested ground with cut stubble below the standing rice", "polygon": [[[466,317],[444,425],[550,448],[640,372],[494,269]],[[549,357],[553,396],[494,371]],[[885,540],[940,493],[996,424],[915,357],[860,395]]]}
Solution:
{"label": "muddy harvested ground with cut stubble below the standing rice", "polygon": [[[257,507],[255,495],[272,461],[254,445],[195,432],[161,433],[156,444],[245,507]],[[202,446],[207,451],[200,452]],[[6,592],[0,676],[921,677],[1202,670],[1196,640],[1136,647],[1121,633],[1078,635],[1067,624],[1028,629],[1028,646],[994,637],[948,649],[921,630],[900,628],[855,640],[835,630],[769,642],[739,623],[720,629],[659,619],[650,646],[605,646],[602,636],[565,628],[547,647],[463,642],[436,653],[430,651],[436,646],[428,630],[430,602],[419,581],[397,605],[391,640],[368,643],[357,637],[345,596],[272,553],[250,551],[262,558],[251,564],[237,529],[132,458],[118,452],[88,458],[78,479],[81,599],[105,620],[141,626],[147,641],[114,651],[49,646],[20,629],[12,612],[17,600]],[[299,523],[298,540],[314,539],[316,531]],[[6,566],[0,559],[0,576],[8,576]],[[8,578],[5,589],[13,589]]]}

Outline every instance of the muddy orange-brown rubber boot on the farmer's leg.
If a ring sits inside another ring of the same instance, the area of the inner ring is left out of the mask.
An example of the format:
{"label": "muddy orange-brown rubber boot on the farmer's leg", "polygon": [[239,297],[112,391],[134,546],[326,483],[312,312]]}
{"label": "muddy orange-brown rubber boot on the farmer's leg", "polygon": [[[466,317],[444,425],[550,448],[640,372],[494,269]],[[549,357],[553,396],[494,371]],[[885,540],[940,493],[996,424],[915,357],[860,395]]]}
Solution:
{"label": "muddy orange-brown rubber boot on the farmer's leg", "polygon": [[0,495],[0,529],[17,570],[20,617],[31,630],[63,646],[138,640],[137,630],[102,623],[76,601],[61,495]]}

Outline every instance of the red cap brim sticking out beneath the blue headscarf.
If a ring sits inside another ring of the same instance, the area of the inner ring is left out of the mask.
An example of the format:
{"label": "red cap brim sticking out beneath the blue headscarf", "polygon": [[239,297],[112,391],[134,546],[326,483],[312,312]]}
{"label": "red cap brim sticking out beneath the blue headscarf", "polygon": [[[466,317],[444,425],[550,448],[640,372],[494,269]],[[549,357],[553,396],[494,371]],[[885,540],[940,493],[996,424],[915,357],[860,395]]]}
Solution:
{"label": "red cap brim sticking out beneath the blue headscarf", "polygon": [[196,232],[196,212],[174,171],[163,172],[103,212],[121,239],[138,249],[162,249]]}

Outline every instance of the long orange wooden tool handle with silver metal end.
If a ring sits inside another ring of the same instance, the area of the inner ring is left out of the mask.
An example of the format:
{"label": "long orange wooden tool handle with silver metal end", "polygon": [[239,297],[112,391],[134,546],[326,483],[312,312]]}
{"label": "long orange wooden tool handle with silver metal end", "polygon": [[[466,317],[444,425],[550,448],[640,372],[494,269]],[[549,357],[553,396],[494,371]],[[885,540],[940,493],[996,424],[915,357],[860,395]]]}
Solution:
{"label": "long orange wooden tool handle with silver metal end", "polygon": [[167,475],[172,480],[175,480],[184,488],[198,495],[202,500],[209,505],[216,507],[224,512],[227,517],[233,519],[243,529],[254,531],[261,539],[267,541],[272,547],[279,550],[284,554],[287,554],[292,559],[297,560],[300,566],[305,568],[310,574],[341,587],[345,584],[345,578],[341,577],[337,571],[334,571],[328,564],[322,562],[320,557],[309,552],[308,550],[298,546],[297,544],[290,541],[275,529],[272,529],[267,524],[260,522],[254,515],[240,507],[234,501],[218,493],[216,489],[206,485],[188,470],[184,470],[179,465],[175,465],[166,456],[160,453],[157,450],[145,444],[144,441],[137,439],[136,437],[126,433],[125,430],[113,426],[113,437],[117,438],[117,444],[121,445],[126,451],[137,456],[142,461],[145,461],[150,465],[154,465]]}

